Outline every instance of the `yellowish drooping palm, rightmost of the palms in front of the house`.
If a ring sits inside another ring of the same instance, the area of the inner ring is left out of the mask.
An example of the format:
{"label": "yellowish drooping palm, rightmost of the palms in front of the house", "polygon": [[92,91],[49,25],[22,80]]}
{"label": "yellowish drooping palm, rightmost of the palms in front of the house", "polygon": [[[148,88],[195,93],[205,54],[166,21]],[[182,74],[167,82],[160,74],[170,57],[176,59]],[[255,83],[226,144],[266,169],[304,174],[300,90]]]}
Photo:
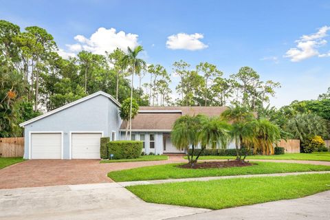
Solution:
{"label": "yellowish drooping palm, rightmost of the palms in front of the house", "polygon": [[259,150],[263,155],[274,154],[273,144],[281,140],[278,126],[265,118],[253,120],[250,124],[254,132],[252,139],[254,153]]}

